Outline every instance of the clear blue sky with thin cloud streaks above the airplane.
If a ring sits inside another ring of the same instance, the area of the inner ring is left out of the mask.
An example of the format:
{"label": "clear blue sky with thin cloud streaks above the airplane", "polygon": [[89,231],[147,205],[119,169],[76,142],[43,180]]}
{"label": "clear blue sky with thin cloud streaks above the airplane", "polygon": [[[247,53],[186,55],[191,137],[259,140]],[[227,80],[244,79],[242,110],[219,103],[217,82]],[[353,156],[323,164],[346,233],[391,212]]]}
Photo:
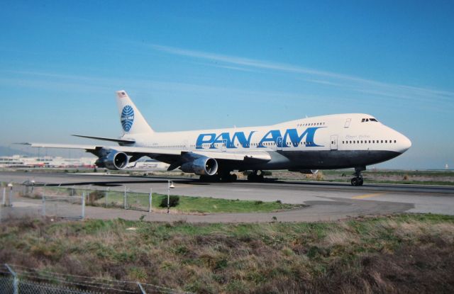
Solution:
{"label": "clear blue sky with thin cloud streaks above the airplane", "polygon": [[453,1],[0,1],[0,145],[370,113],[454,166]]}

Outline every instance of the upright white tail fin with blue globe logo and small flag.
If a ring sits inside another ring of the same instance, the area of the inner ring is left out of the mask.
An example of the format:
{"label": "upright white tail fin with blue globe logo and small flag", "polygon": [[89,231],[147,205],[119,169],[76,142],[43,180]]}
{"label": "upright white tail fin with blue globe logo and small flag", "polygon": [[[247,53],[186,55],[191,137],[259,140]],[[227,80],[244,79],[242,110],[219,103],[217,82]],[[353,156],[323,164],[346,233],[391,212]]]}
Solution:
{"label": "upright white tail fin with blue globe logo and small flag", "polygon": [[137,107],[135,107],[131,98],[126,94],[126,91],[116,91],[116,103],[124,134],[154,132]]}

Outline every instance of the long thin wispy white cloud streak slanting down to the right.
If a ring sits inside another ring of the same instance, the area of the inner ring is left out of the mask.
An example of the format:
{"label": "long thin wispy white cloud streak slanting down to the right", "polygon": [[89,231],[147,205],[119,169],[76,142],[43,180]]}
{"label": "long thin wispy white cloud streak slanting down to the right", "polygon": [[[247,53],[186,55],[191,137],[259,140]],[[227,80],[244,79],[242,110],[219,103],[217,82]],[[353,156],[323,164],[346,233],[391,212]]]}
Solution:
{"label": "long thin wispy white cloud streak slanting down to the right", "polygon": [[[348,88],[351,91],[357,91],[366,94],[377,96],[385,96],[389,98],[399,98],[404,100],[418,100],[423,102],[444,101],[452,103],[454,101],[454,92],[441,91],[438,89],[430,89],[418,86],[406,86],[399,84],[389,84],[382,81],[364,79],[336,72],[327,72],[317,69],[300,67],[292,64],[284,64],[270,62],[266,60],[255,60],[244,57],[236,57],[231,55],[220,55],[211,52],[203,52],[196,50],[187,50],[178,47],[170,47],[163,45],[148,45],[153,50],[167,52],[172,55],[193,57],[201,60],[211,60],[221,62],[223,64],[214,64],[216,67],[228,67],[244,71],[245,69],[268,69],[279,72],[289,72],[298,74],[305,81],[325,84],[327,86],[336,86]],[[229,65],[230,64],[230,65]],[[239,67],[238,67],[239,66]]]}

